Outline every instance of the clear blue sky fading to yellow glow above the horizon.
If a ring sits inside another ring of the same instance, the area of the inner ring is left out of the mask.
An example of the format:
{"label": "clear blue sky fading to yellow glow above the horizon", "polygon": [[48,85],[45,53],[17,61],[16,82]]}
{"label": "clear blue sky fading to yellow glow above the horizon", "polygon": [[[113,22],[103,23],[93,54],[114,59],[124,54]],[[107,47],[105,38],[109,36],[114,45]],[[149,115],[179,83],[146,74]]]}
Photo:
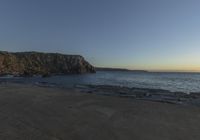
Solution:
{"label": "clear blue sky fading to yellow glow above the horizon", "polygon": [[0,50],[200,72],[199,0],[0,0]]}

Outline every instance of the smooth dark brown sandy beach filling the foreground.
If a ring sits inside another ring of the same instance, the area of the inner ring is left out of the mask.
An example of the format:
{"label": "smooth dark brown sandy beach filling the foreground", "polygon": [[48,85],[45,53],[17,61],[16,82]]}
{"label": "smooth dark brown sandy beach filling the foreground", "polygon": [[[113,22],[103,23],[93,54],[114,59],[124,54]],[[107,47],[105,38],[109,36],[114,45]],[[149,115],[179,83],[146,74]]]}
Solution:
{"label": "smooth dark brown sandy beach filling the foreground", "polygon": [[200,140],[200,108],[3,84],[0,140]]}

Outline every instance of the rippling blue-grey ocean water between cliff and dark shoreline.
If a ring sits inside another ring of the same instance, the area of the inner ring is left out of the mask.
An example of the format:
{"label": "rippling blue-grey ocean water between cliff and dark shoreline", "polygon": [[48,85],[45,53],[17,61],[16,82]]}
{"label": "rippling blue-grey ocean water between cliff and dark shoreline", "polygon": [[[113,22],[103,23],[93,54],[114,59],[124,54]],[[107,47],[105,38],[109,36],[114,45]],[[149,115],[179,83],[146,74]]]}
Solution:
{"label": "rippling blue-grey ocean water between cliff and dark shoreline", "polygon": [[165,89],[177,92],[200,92],[200,73],[156,73],[98,71],[96,74],[41,77],[1,77],[0,82],[49,84],[61,87],[75,85],[116,85],[138,88]]}

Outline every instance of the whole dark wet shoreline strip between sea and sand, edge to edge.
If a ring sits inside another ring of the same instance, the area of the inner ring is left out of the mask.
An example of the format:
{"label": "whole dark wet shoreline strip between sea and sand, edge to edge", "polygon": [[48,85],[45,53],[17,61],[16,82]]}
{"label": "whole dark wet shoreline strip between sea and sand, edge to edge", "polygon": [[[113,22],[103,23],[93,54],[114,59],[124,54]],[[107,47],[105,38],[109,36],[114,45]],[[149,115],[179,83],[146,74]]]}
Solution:
{"label": "whole dark wet shoreline strip between sea and sand, edge to edge", "polygon": [[94,94],[103,96],[113,96],[119,98],[130,98],[135,100],[145,100],[178,105],[200,106],[200,92],[171,92],[164,89],[136,88],[112,85],[74,85],[73,87],[59,86],[54,83],[37,82],[34,84],[2,82],[5,85],[16,86],[36,86],[41,88],[52,88],[58,90],[76,90],[84,94]]}

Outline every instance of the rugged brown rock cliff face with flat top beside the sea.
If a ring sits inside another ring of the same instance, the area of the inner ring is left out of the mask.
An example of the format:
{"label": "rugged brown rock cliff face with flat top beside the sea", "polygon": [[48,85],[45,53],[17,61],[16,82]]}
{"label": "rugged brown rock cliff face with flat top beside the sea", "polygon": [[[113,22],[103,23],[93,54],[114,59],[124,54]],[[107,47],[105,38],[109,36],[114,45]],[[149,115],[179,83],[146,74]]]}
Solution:
{"label": "rugged brown rock cliff face with flat top beside the sea", "polygon": [[94,73],[95,68],[79,55],[0,52],[0,74],[48,75]]}

